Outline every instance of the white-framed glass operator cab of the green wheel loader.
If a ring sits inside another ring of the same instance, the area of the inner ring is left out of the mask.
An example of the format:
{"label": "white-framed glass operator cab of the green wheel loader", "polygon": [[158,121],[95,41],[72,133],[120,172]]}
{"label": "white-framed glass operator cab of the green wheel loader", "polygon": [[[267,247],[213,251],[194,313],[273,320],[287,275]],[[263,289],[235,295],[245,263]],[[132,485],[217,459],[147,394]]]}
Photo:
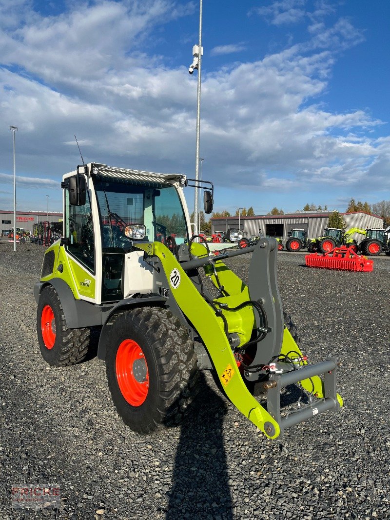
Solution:
{"label": "white-framed glass operator cab of the green wheel loader", "polygon": [[[80,296],[100,304],[152,292],[152,267],[133,242],[189,242],[183,188],[212,186],[192,180],[95,163],[64,176],[63,244]],[[213,191],[205,190],[205,212],[212,206]]]}

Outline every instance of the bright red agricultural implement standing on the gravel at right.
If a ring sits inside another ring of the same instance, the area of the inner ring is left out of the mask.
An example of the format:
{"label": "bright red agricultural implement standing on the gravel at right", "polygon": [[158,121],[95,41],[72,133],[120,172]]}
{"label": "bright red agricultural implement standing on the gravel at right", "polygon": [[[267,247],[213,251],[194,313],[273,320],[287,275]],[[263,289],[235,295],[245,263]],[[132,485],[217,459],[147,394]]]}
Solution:
{"label": "bright red agricultural implement standing on the gravel at right", "polygon": [[341,271],[370,272],[374,268],[374,262],[366,256],[356,254],[354,245],[334,248],[324,254],[311,253],[305,256],[307,267],[319,267],[320,269],[337,269]]}

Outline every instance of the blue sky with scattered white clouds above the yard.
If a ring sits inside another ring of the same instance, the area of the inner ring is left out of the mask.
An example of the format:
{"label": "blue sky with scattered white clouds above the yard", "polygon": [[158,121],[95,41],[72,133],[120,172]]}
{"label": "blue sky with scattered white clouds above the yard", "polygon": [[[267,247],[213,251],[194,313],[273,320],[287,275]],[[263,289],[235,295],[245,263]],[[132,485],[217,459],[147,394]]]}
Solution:
{"label": "blue sky with scattered white clouds above the yard", "polygon": [[[390,199],[390,2],[203,0],[215,209]],[[0,0],[0,208],[61,209],[80,162],[192,177],[199,2]],[[192,193],[188,196],[193,204]]]}

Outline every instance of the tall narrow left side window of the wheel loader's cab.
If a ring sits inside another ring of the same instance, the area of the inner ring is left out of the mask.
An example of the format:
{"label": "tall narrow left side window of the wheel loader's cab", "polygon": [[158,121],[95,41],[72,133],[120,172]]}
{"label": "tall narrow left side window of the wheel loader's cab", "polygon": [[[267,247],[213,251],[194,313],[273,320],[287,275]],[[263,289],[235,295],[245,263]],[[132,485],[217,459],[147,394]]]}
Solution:
{"label": "tall narrow left side window of the wheel loader's cab", "polygon": [[69,243],[67,250],[85,267],[95,269],[94,228],[90,208],[89,192],[84,206],[71,206],[69,193],[65,190],[65,236]]}

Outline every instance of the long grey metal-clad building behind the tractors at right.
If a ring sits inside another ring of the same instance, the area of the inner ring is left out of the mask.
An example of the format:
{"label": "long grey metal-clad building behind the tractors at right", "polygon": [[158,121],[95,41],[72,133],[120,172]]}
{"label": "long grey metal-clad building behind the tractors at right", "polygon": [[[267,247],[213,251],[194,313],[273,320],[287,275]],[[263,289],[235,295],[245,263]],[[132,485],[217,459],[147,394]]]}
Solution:
{"label": "long grey metal-clad building behind the tractors at right", "polygon": [[[329,211],[304,211],[302,213],[291,213],[289,215],[258,215],[253,217],[241,216],[212,218],[212,232],[226,232],[228,229],[241,229],[244,237],[254,236],[278,237],[287,241],[291,236],[292,229],[304,229],[309,238],[323,236],[323,230],[328,226]],[[346,229],[357,227],[383,228],[383,218],[364,212],[340,213],[344,217]],[[359,238],[360,237],[360,238]],[[361,235],[354,238],[361,239]]]}

